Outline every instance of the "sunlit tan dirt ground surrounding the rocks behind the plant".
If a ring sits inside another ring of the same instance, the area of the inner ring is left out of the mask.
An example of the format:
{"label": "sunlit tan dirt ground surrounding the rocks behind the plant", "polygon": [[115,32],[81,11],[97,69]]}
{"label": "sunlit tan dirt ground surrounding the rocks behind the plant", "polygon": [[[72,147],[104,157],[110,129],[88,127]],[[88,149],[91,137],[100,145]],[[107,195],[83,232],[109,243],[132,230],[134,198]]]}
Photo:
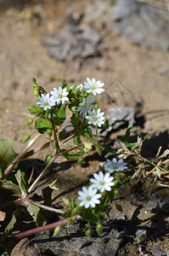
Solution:
{"label": "sunlit tan dirt ground surrounding the rocks behind the plant", "polygon": [[[63,79],[71,85],[82,84],[89,77],[104,82],[105,89],[110,92],[119,90],[120,84],[124,91],[123,106],[125,102],[133,106],[133,96],[141,96],[144,99],[141,114],[145,121],[134,127],[133,135],[149,132],[148,153],[156,154],[161,145],[164,149],[168,147],[169,52],[145,49],[116,35],[111,21],[113,1],[106,2],[107,9],[101,11],[102,1],[96,0],[25,1],[22,11],[17,3],[19,1],[0,1],[0,138],[14,139],[14,150],[19,153],[24,147],[20,145],[20,138],[33,131],[32,127],[25,125],[26,119],[31,117],[26,108],[36,101],[31,92],[32,77],[48,91],[59,86]],[[72,10],[77,14],[83,13],[82,23],[99,32],[102,38],[100,56],[65,62],[49,57],[48,48],[42,45],[42,40],[49,35],[57,36]],[[124,135],[124,131],[115,132],[112,138]],[[64,171],[57,176],[60,190],[53,195],[53,203],[66,196],[66,189],[72,190],[72,187],[76,188],[75,191],[67,196],[76,198],[77,189],[99,170],[100,160],[94,156],[88,157],[82,169],[76,164],[65,164],[66,170],[62,166]],[[36,157],[44,160],[43,154]],[[75,172],[79,172],[76,179]]]}

